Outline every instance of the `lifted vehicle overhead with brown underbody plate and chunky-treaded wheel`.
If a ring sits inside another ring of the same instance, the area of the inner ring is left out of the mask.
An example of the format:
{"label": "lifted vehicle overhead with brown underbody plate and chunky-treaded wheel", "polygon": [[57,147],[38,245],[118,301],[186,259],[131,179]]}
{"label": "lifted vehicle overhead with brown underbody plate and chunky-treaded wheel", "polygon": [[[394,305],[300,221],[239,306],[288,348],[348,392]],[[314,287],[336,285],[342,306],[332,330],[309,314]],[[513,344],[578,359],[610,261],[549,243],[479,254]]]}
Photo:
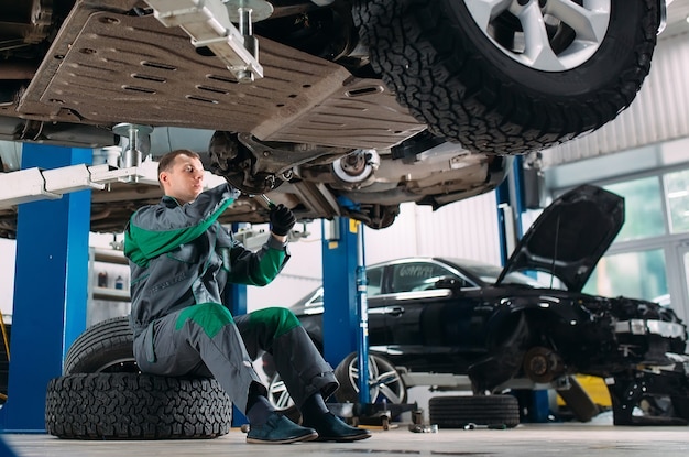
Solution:
{"label": "lifted vehicle overhead with brown underbody plate and chunky-treaded wheel", "polygon": [[[127,126],[215,132],[194,150],[247,194],[226,222],[265,221],[249,196],[273,193],[302,219],[384,228],[402,202],[438,208],[491,191],[506,156],[614,119],[649,72],[664,11],[664,0],[6,2],[0,139],[125,155]],[[95,194],[94,231],[121,230],[155,194],[113,192]],[[0,236],[13,218],[0,214]]]}

